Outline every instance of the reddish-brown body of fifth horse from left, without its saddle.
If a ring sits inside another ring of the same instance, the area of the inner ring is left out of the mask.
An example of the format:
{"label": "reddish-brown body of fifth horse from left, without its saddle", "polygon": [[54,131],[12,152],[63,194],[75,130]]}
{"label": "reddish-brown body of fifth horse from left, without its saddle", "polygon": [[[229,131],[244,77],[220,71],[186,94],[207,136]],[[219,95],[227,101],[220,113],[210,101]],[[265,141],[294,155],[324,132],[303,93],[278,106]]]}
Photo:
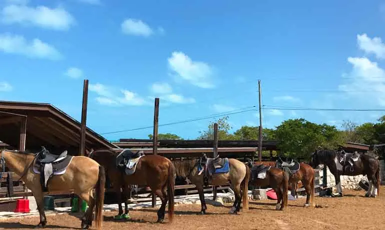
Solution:
{"label": "reddish-brown body of fifth horse from left, without its saddle", "polygon": [[[257,161],[256,164],[264,164],[277,167],[276,161]],[[314,169],[307,163],[299,163],[299,170],[289,176],[288,189],[291,195],[296,196],[298,181],[300,180],[306,191],[306,203],[304,206],[315,206],[314,204]]]}

